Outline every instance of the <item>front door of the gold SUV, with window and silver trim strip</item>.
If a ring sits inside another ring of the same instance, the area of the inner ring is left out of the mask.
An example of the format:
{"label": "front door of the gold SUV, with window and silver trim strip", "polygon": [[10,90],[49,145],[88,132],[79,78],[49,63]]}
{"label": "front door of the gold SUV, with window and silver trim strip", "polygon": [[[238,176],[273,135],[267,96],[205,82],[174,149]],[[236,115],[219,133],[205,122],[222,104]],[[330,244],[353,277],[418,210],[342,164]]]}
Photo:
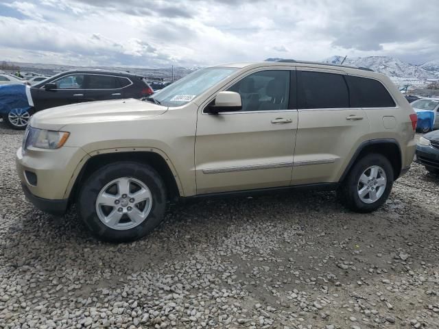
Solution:
{"label": "front door of the gold SUV, with window and silver trim strip", "polygon": [[[294,77],[294,79],[291,79]],[[242,110],[198,112],[197,193],[288,186],[298,123],[295,71],[271,69],[243,77],[228,90]]]}

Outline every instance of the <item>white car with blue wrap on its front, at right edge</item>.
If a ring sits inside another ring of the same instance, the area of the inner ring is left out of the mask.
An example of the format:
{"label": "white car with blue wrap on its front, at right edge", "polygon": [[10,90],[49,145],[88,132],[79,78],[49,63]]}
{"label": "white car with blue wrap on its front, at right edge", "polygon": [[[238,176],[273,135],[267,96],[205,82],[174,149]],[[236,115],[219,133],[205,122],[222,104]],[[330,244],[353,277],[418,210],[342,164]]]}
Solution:
{"label": "white car with blue wrap on its front, at right edge", "polygon": [[418,115],[417,129],[420,132],[429,132],[439,128],[439,98],[421,98],[412,103],[416,114]]}

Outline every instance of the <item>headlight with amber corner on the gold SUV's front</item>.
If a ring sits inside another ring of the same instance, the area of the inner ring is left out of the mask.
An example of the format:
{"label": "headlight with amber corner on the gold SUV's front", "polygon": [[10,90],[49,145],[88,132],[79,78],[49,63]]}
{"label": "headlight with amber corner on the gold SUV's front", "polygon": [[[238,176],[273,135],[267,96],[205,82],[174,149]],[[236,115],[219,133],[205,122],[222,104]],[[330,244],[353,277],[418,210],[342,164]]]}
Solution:
{"label": "headlight with amber corner on the gold SUV's front", "polygon": [[59,149],[69,138],[69,132],[54,132],[29,127],[25,134],[24,149],[38,147],[39,149]]}

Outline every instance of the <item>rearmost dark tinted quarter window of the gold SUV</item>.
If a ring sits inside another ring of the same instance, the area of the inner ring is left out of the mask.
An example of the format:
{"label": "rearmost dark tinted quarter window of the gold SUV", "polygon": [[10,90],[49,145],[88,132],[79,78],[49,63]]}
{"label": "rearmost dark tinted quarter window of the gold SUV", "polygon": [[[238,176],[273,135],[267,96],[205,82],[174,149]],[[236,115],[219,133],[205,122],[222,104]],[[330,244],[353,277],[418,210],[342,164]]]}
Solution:
{"label": "rearmost dark tinted quarter window of the gold SUV", "polygon": [[395,102],[378,80],[346,76],[352,108],[394,108]]}

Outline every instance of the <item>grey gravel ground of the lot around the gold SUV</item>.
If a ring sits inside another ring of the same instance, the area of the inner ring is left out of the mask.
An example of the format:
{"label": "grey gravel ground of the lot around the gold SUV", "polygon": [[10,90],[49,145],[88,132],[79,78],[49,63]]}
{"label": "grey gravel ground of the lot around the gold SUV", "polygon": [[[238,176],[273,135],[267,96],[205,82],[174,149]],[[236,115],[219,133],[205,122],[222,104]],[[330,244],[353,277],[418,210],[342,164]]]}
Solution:
{"label": "grey gravel ground of the lot around the gold SUV", "polygon": [[202,201],[112,245],[25,200],[21,138],[0,127],[0,328],[439,328],[439,178],[418,164],[373,214],[327,192]]}

